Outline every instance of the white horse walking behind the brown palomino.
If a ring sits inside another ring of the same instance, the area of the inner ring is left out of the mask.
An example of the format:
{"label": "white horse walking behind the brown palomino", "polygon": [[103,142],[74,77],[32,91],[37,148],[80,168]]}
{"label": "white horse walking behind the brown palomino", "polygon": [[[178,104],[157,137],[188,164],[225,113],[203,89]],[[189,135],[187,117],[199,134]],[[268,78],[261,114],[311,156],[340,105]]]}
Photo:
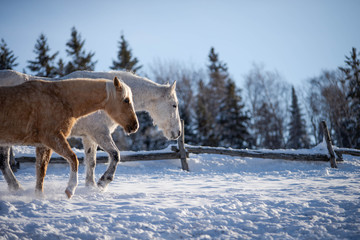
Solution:
{"label": "white horse walking behind the brown palomino", "polygon": [[[0,85],[2,82],[9,82],[6,80],[9,76],[14,82],[39,79],[38,77],[22,74],[16,71],[3,70],[0,71]],[[131,88],[136,111],[149,112],[150,116],[154,120],[154,124],[163,131],[166,138],[177,139],[180,136],[180,116],[175,91],[176,82],[174,82],[171,86],[168,84],[161,85],[149,79],[124,71],[77,71],[62,77],[61,79],[113,79],[115,76],[119,77]],[[83,140],[86,164],[86,186],[95,186],[94,171],[96,166],[97,146],[100,146],[109,154],[110,165],[116,165],[119,162],[119,149],[116,147],[114,140],[111,137],[111,134],[114,132],[116,127],[117,124],[102,111],[98,111],[79,119],[73,127],[70,136],[78,136]],[[105,188],[113,180],[114,174],[114,168],[108,167],[106,172],[98,181],[97,185]]]}

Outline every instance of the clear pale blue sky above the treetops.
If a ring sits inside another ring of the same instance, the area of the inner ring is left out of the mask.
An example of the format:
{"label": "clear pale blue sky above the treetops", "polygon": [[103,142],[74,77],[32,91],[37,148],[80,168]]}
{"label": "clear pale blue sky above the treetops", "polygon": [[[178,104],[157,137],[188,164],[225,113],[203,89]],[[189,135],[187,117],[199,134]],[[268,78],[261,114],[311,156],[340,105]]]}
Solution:
{"label": "clear pale blue sky above the treetops", "polygon": [[0,38],[22,71],[33,60],[41,33],[51,52],[66,59],[76,27],[95,52],[97,71],[108,71],[121,33],[149,72],[155,60],[205,67],[213,46],[241,86],[253,63],[301,85],[322,69],[343,65],[360,50],[360,1],[20,1],[0,0]]}

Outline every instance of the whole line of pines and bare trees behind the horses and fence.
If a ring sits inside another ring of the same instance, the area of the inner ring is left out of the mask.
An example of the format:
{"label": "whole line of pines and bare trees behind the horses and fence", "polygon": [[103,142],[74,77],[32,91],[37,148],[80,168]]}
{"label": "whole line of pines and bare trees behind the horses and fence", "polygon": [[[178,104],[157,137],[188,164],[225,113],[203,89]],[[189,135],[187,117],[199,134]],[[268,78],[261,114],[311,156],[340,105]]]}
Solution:
{"label": "whole line of pines and bare trees behind the horses and fence", "polygon": [[[34,47],[36,58],[28,61],[31,74],[61,77],[76,70],[95,70],[95,52],[84,49],[75,27],[66,43],[69,61],[50,53],[44,34]],[[189,144],[232,148],[308,148],[322,141],[320,121],[330,126],[337,146],[360,148],[360,64],[355,48],[345,56],[343,66],[326,70],[296,89],[277,71],[254,64],[239,88],[227,64],[214,47],[205,68],[179,62],[155,61],[146,76],[159,82],[177,81],[179,111],[185,120],[185,141]],[[0,69],[18,66],[17,57],[4,39],[0,43]],[[124,35],[120,36],[112,70],[136,73],[142,68]],[[26,72],[26,70],[23,70]],[[116,131],[120,149],[163,148],[168,141],[156,130],[147,113],[138,114],[138,133],[124,138]]]}

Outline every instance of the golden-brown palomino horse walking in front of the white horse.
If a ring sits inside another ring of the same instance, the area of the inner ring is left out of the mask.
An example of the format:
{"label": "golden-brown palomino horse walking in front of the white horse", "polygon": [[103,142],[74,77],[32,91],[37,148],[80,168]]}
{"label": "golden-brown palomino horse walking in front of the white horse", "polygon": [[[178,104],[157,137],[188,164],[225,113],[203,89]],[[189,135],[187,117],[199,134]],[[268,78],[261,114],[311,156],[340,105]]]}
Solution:
{"label": "golden-brown palomino horse walking in front of the white horse", "polygon": [[[65,81],[29,81],[13,87],[0,87],[0,146],[8,155],[11,145],[36,146],[36,191],[43,192],[43,181],[52,151],[70,163],[65,190],[70,198],[78,184],[78,159],[66,138],[76,120],[104,110],[127,133],[138,129],[131,89],[114,78]],[[116,166],[113,166],[116,168]],[[0,168],[9,188],[20,184],[12,173],[8,158],[0,157]]]}

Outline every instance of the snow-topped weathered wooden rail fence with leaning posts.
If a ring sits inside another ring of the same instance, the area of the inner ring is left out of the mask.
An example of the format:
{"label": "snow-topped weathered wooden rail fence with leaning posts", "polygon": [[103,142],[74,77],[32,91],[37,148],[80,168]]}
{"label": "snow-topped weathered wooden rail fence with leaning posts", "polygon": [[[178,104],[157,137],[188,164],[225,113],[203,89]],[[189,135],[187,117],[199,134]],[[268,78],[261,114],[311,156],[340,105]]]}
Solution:
{"label": "snow-topped weathered wooden rail fence with leaning posts", "polygon": [[[343,161],[343,154],[350,154],[360,156],[360,150],[348,148],[334,148],[331,143],[330,134],[325,121],[321,122],[324,141],[326,142],[327,151],[317,149],[300,149],[300,150],[250,150],[250,149],[231,149],[222,147],[200,147],[185,145],[184,142],[184,121],[181,120],[182,134],[178,139],[178,146],[172,146],[169,150],[162,151],[149,151],[133,154],[121,154],[121,162],[130,161],[149,161],[149,160],[168,160],[180,159],[181,167],[185,171],[189,171],[187,158],[189,153],[192,154],[224,154],[238,157],[252,157],[252,158],[267,158],[267,159],[283,159],[283,160],[296,160],[296,161],[330,161],[331,167],[337,168],[337,161]],[[19,157],[16,158],[18,163],[35,162],[34,157]],[[79,157],[82,162],[83,158]],[[97,157],[98,163],[106,163],[107,156]],[[51,158],[50,163],[66,163],[63,158]]]}

